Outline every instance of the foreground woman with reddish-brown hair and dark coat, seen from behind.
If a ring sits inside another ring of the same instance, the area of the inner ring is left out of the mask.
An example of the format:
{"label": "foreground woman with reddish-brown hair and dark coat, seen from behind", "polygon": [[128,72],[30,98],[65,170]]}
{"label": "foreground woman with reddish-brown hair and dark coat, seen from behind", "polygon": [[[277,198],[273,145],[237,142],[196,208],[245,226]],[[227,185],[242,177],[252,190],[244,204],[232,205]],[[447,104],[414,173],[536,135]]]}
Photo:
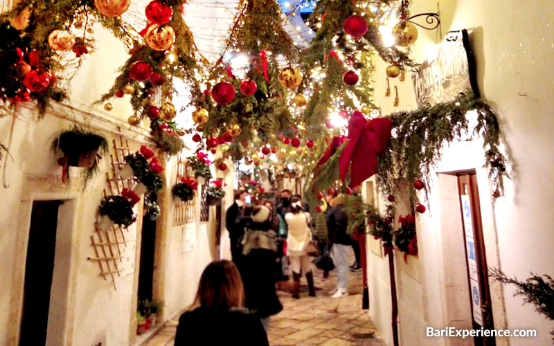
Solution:
{"label": "foreground woman with reddish-brown hair and dark coat, seen from behind", "polygon": [[244,309],[244,289],[233,262],[204,269],[193,304],[179,318],[175,346],[268,345],[260,319]]}

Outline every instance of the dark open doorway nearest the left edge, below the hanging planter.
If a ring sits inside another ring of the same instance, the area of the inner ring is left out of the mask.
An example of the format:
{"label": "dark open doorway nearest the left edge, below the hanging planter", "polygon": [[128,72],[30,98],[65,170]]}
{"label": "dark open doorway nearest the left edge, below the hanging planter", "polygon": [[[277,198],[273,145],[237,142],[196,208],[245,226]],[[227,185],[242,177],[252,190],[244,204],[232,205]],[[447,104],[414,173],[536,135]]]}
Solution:
{"label": "dark open doorway nearest the left edge, below the hanging planter", "polygon": [[27,246],[19,345],[45,345],[62,201],[34,201]]}

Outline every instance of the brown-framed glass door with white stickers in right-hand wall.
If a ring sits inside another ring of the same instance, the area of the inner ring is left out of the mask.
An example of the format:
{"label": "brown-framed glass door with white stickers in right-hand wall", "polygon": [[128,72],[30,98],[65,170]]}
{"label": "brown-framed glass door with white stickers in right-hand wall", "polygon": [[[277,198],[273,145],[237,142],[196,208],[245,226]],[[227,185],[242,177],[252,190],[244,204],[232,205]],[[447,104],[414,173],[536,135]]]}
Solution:
{"label": "brown-framed glass door with white stickers in right-hand wall", "polygon": [[[475,172],[459,173],[458,194],[463,218],[465,260],[470,289],[473,329],[494,329],[488,266],[483,241],[481,206]],[[475,336],[476,346],[496,345],[494,337]]]}

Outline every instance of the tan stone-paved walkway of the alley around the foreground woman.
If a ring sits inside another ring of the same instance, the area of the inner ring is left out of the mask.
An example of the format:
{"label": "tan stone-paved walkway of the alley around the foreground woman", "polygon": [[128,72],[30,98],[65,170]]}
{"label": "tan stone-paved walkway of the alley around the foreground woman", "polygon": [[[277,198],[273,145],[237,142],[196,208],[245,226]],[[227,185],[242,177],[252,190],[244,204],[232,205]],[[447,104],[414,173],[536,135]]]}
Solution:
{"label": "tan stone-paved walkway of the alley around the foreground woman", "polygon": [[[301,280],[301,299],[290,297],[292,281],[281,285],[278,295],[283,311],[271,316],[267,336],[269,345],[298,346],[384,346],[367,311],[361,309],[361,271],[349,273],[349,295],[332,298],[337,271],[321,280],[321,271],[314,270],[316,297],[308,297],[305,277]],[[178,317],[170,320],[147,346],[174,346]]]}

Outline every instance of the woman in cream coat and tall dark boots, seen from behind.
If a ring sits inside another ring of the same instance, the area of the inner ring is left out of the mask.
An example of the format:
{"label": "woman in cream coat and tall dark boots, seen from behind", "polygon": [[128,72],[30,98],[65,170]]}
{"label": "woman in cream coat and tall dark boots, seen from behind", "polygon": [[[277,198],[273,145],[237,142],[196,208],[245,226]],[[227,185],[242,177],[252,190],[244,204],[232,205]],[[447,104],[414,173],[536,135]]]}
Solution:
{"label": "woman in cream coat and tall dark boots, seen from behind", "polygon": [[312,240],[312,231],[310,230],[311,217],[302,208],[302,202],[298,197],[291,200],[289,212],[285,215],[285,221],[289,228],[287,237],[287,252],[290,265],[292,267],[292,278],[294,286],[292,287],[292,298],[300,298],[300,278],[305,273],[307,286],[310,291],[310,297],[316,296],[314,287],[314,275],[310,268],[310,257],[307,255],[307,246]]}

